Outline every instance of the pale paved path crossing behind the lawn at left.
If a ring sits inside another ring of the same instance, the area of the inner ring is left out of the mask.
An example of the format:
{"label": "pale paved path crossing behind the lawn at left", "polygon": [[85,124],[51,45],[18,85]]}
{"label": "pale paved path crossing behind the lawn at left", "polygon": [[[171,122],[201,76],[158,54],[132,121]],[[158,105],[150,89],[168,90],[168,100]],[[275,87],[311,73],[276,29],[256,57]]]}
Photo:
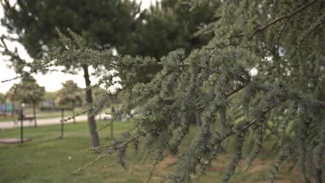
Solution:
{"label": "pale paved path crossing behind the lawn at left", "polygon": [[[87,116],[77,116],[76,121],[87,121]],[[72,123],[73,120],[69,120],[65,123]],[[38,119],[38,125],[53,125],[53,124],[60,124],[60,118],[49,118],[49,119]],[[24,126],[33,126],[34,121],[26,120],[24,121]],[[0,121],[0,129],[8,129],[8,128],[18,128],[20,127],[20,121],[18,121],[18,125],[14,125],[13,121]]]}

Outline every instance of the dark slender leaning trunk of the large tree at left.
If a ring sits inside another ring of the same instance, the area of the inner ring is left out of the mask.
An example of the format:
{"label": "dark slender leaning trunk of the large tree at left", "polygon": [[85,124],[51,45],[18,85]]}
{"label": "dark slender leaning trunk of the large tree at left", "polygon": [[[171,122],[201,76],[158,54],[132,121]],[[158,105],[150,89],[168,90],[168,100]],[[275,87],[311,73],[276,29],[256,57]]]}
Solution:
{"label": "dark slender leaning trunk of the large tree at left", "polygon": [[[85,85],[86,87],[90,87],[90,79],[88,73],[88,66],[83,65],[83,77],[85,78]],[[88,104],[92,103],[92,89],[87,89],[86,92],[86,101]],[[90,116],[88,114],[88,125],[89,125],[89,132],[90,132],[90,139],[92,143],[92,147],[99,146],[99,137],[96,132],[96,121],[94,120],[94,116]]]}

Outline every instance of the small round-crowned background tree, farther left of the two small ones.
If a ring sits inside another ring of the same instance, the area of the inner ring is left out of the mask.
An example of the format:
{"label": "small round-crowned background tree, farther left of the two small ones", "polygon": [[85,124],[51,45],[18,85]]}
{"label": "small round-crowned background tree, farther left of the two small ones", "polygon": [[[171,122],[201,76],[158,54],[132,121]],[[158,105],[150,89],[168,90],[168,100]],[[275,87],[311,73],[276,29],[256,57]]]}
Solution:
{"label": "small round-crowned background tree, farther left of the two small ones", "polygon": [[10,91],[12,101],[31,104],[33,106],[34,126],[37,127],[36,105],[43,100],[45,94],[44,87],[40,87],[33,76],[27,76],[18,84],[13,85]]}

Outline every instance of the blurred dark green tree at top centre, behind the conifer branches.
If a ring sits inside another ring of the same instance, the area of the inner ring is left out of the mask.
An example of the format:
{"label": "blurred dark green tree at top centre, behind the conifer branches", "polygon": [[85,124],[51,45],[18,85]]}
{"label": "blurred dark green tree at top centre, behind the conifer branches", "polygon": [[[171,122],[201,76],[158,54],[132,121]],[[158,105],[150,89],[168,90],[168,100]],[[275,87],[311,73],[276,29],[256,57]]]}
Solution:
{"label": "blurred dark green tree at top centre, behind the conifer branches", "polygon": [[[189,9],[190,0],[157,1],[142,12],[142,24],[136,30],[133,49],[118,50],[122,55],[150,56],[159,60],[170,51],[183,48],[187,51],[208,43],[212,33],[194,36],[201,27],[215,20],[213,15],[216,2],[202,3],[195,10]],[[148,66],[138,69],[138,80],[149,82],[161,66]],[[123,78],[122,78],[123,79]]]}

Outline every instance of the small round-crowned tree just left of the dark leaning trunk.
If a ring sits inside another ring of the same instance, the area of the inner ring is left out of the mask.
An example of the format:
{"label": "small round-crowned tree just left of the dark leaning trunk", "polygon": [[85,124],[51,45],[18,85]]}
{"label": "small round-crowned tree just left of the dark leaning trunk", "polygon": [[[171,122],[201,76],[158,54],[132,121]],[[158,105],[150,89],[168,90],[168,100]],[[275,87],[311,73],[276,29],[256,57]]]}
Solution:
{"label": "small round-crowned tree just left of the dark leaning trunk", "polygon": [[[78,87],[76,82],[73,80],[67,80],[65,83],[62,83],[63,88],[58,91],[58,103],[60,105],[71,105],[72,115],[74,116],[74,108],[79,103],[82,103],[83,89]],[[76,119],[74,118],[76,123]]]}

